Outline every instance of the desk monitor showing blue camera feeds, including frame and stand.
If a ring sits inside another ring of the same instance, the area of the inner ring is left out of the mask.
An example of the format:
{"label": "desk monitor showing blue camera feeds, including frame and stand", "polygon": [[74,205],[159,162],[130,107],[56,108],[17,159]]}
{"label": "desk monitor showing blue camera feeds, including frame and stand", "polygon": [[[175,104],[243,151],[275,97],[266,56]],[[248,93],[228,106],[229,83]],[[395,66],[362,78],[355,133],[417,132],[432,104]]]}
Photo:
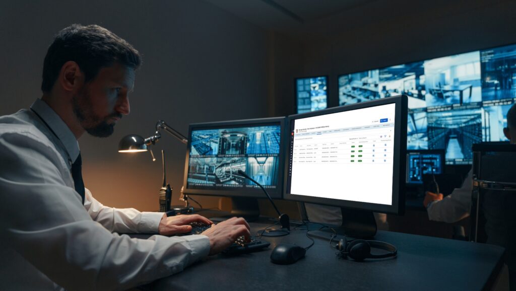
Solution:
{"label": "desk monitor showing blue camera feeds, including frame and stand", "polygon": [[233,215],[257,217],[256,198],[266,195],[238,170],[282,198],[284,123],[282,117],[190,124],[184,193],[228,196]]}

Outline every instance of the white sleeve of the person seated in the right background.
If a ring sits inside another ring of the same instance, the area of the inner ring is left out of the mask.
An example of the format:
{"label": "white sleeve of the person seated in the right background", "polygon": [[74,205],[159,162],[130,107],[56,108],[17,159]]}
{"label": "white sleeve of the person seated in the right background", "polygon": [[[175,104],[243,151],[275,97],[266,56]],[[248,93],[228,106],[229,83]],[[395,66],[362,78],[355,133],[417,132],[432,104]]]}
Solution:
{"label": "white sleeve of the person seated in the right background", "polygon": [[452,223],[470,216],[471,191],[473,191],[473,169],[467,173],[460,188],[455,188],[443,200],[430,203],[426,208],[428,219]]}

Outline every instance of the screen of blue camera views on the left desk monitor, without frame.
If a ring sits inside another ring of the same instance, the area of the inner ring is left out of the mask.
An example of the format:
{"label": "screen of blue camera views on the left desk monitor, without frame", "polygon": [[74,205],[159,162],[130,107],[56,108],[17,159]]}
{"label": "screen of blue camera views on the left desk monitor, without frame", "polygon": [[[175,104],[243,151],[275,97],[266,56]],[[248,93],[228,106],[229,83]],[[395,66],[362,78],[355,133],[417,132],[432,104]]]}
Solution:
{"label": "screen of blue camera views on the left desk monitor, without frame", "polygon": [[280,137],[279,125],[193,130],[188,188],[257,188],[238,174],[238,170],[242,170],[265,188],[276,189]]}

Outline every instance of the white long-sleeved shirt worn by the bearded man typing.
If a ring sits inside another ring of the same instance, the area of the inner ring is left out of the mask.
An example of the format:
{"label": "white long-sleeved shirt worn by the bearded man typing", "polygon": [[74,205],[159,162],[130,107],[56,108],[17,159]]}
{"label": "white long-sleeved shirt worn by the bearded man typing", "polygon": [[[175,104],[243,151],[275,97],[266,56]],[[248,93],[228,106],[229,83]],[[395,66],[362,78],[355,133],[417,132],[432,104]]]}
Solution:
{"label": "white long-sleeved shirt worn by the bearded man typing", "polygon": [[204,235],[112,233],[156,233],[163,213],[106,207],[88,189],[83,205],[70,173],[78,154],[73,133],[41,100],[0,117],[1,290],[126,289],[208,255]]}

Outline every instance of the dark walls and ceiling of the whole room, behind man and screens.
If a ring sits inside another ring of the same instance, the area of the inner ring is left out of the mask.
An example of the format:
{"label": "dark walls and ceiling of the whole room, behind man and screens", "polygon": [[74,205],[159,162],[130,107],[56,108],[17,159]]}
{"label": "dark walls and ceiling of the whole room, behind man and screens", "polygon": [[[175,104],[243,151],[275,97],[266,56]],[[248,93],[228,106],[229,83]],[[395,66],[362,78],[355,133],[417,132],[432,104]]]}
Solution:
{"label": "dark walls and ceiling of the whole room, behind man and screens", "polygon": [[[299,1],[329,5],[332,1]],[[121,137],[150,136],[162,119],[188,124],[293,114],[294,78],[337,75],[516,43],[516,1],[349,1],[346,9],[293,20],[261,0],[0,2],[0,115],[40,98],[47,47],[73,23],[99,24],[140,51],[131,114],[106,139],[79,140],[86,187],[114,207],[157,209],[159,158],[117,152]],[[254,9],[261,7],[263,9]],[[185,146],[163,134],[173,204],[183,185]],[[0,161],[2,163],[2,161]],[[219,199],[196,197],[204,207]]]}

